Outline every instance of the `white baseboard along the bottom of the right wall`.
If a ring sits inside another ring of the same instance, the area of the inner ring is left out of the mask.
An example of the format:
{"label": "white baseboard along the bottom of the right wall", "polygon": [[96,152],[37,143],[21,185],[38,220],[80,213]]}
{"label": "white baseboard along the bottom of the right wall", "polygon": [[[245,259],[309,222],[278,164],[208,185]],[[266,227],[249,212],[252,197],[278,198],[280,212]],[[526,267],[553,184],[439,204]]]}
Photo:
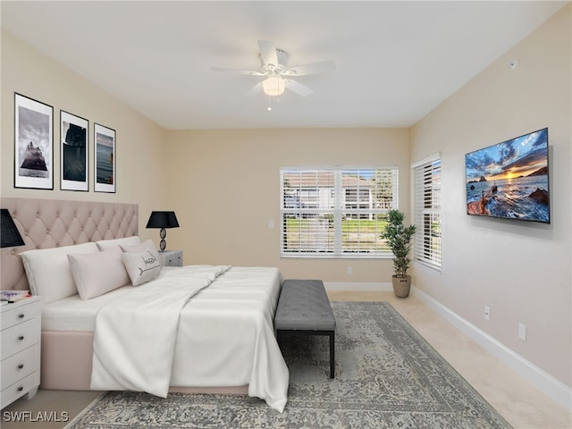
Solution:
{"label": "white baseboard along the bottom of the right wall", "polygon": [[474,324],[469,323],[449,308],[444,307],[439,301],[433,299],[425,292],[412,288],[411,293],[417,299],[423,301],[427,307],[432,308],[450,324],[457,327],[458,330],[465,333],[471,340],[489,351],[493,356],[501,359],[517,374],[520,374],[536,388],[546,393],[552,400],[556,400],[560,405],[572,412],[572,388],[535,366],[532,362],[527,361],[501,342],[496,341],[489,334],[481,331]]}

